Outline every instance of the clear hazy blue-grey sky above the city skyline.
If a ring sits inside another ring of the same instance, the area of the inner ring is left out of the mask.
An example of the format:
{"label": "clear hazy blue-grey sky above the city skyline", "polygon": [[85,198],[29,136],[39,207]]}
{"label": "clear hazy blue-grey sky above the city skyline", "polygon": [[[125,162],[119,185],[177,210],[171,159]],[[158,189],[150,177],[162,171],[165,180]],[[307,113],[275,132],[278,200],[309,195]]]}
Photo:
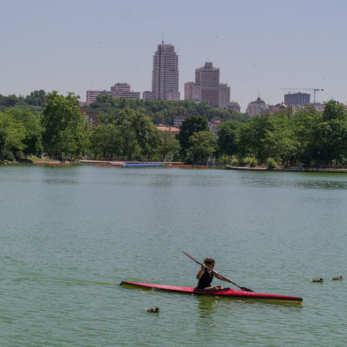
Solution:
{"label": "clear hazy blue-grey sky above the city skyline", "polygon": [[151,90],[164,40],[179,56],[179,91],[213,62],[245,112],[260,96],[308,92],[347,102],[344,0],[0,0],[0,94]]}

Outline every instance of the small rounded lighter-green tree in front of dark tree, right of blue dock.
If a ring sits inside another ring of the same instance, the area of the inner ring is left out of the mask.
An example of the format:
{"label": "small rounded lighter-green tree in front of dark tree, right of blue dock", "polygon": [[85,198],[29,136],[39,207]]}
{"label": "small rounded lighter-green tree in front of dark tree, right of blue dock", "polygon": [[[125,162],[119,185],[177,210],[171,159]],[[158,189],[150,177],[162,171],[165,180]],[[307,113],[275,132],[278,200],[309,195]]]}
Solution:
{"label": "small rounded lighter-green tree in front of dark tree, right of blue dock", "polygon": [[189,151],[194,156],[194,162],[205,161],[216,151],[217,141],[210,131],[199,131],[189,137]]}

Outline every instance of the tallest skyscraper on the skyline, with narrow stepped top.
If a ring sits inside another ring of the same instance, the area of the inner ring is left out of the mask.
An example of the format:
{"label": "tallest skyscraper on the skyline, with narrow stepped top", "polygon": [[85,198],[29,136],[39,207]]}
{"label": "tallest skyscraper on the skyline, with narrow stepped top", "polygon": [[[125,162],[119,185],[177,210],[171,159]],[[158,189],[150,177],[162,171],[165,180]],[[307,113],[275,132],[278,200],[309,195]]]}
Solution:
{"label": "tallest skyscraper on the skyline, with narrow stepped top", "polygon": [[153,99],[180,100],[178,92],[178,56],[172,44],[158,44],[153,56]]}

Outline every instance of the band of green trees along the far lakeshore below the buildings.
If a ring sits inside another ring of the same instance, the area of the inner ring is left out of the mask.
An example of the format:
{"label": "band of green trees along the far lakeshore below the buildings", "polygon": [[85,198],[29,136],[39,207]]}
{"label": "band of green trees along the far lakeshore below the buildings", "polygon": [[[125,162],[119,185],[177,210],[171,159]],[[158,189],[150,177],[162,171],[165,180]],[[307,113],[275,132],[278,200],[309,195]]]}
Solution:
{"label": "band of green trees along the far lakeshore below the buildings", "polygon": [[[295,113],[287,109],[247,117],[205,103],[101,95],[88,110],[99,114],[98,125],[84,119],[74,93],[0,95],[0,160],[46,152],[60,160],[205,162],[214,155],[219,161],[250,166],[347,165],[347,112],[335,101],[325,103],[323,113],[307,105]],[[174,115],[182,114],[189,117],[177,135],[155,126],[172,124]],[[208,127],[212,119],[222,121],[216,134]]]}

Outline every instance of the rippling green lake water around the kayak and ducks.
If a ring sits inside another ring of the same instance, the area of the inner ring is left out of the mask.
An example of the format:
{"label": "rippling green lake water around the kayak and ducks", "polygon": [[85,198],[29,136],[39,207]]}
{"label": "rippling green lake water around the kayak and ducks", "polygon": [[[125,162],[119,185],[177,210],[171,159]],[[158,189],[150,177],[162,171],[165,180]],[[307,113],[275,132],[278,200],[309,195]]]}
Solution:
{"label": "rippling green lake water around the kayak and ducks", "polygon": [[[346,174],[2,166],[0,346],[346,346],[346,226]],[[181,249],[303,305],[119,286],[195,287]]]}

